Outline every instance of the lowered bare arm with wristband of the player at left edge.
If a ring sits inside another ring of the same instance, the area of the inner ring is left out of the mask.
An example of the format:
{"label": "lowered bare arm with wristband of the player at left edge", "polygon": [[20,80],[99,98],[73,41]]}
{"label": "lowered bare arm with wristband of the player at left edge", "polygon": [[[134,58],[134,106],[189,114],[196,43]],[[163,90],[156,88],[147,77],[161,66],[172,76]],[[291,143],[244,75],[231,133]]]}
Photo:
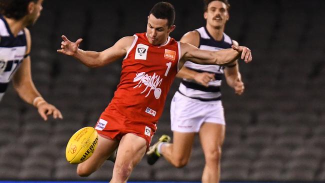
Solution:
{"label": "lowered bare arm with wristband of the player at left edge", "polygon": [[[31,45],[30,33],[27,28],[25,28],[24,31],[27,41],[26,53],[29,53]],[[50,114],[53,114],[54,118],[62,118],[61,112],[55,108],[55,106],[47,103],[35,88],[35,85],[31,79],[30,56],[24,58],[20,67],[13,75],[12,83],[20,98],[27,103],[34,105],[44,120],[47,120],[47,115]]]}

